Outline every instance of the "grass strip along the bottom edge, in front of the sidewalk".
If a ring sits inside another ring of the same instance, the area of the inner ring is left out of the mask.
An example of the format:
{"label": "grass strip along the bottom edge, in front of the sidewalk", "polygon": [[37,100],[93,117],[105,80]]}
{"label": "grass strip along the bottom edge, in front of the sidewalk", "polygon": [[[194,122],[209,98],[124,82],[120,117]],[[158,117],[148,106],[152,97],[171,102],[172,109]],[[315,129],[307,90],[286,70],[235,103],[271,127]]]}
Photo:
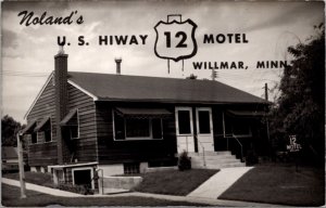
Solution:
{"label": "grass strip along the bottom edge, in front of the sidewalk", "polygon": [[27,198],[20,198],[20,188],[2,184],[1,205],[5,207],[46,207],[60,205],[67,207],[88,206],[206,206],[187,202],[172,202],[148,197],[59,197],[27,191]]}

